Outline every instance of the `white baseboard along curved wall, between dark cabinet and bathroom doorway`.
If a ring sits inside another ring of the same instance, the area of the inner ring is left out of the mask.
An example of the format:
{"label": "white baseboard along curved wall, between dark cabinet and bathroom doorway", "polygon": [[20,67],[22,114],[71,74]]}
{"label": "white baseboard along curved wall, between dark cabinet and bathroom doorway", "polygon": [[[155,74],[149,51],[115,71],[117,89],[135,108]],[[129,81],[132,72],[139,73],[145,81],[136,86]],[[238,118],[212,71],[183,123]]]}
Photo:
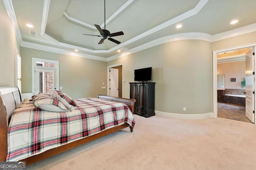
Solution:
{"label": "white baseboard along curved wall, between dark cabinet and bathroom doorway", "polygon": [[168,117],[172,119],[207,119],[213,117],[213,113],[203,113],[203,114],[180,114],[180,113],[167,113],[163,111],[155,110],[156,115],[162,117]]}

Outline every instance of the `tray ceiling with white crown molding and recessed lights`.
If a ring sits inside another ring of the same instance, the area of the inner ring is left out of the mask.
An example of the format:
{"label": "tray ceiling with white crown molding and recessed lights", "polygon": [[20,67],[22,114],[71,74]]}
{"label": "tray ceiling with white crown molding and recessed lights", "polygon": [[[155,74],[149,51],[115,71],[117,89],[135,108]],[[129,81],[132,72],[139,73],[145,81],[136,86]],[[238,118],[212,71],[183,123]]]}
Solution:
{"label": "tray ceiling with white crown molding and recessed lights", "polygon": [[[106,29],[111,33],[123,31],[124,35],[113,37],[121,42],[119,45],[108,40],[99,45],[101,37],[82,34],[100,35],[94,24],[104,29],[104,0],[4,0],[4,3],[9,16],[14,16],[10,17],[12,23],[16,21],[14,27],[20,34],[17,37],[21,46],[70,51],[103,61],[138,51],[150,43],[157,45],[156,41],[158,44],[186,38],[214,41],[221,39],[222,33],[231,37],[241,34],[241,30],[256,31],[255,0],[106,0]],[[230,25],[234,19],[239,22]],[[26,23],[34,28],[26,27]],[[177,24],[183,26],[177,29]],[[30,30],[38,35],[30,35]],[[121,54],[117,50],[122,47],[129,50]]]}

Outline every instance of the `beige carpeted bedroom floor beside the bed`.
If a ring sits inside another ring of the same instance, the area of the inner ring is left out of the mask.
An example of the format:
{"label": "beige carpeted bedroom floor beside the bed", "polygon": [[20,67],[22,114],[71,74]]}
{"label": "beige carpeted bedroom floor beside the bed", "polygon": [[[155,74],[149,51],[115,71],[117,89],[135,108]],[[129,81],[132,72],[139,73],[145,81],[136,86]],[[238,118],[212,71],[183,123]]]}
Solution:
{"label": "beige carpeted bedroom floor beside the bed", "polygon": [[42,170],[254,170],[256,125],[134,115],[129,128],[37,162]]}

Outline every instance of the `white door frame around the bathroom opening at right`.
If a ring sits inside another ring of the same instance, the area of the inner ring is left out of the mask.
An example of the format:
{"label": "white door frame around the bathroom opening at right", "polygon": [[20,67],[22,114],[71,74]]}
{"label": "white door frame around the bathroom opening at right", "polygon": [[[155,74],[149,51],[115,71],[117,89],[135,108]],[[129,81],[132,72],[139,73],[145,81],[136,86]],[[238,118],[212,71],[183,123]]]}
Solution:
{"label": "white door frame around the bathroom opening at right", "polygon": [[[215,117],[215,118],[218,117],[218,113],[217,113],[217,111],[218,111],[218,104],[217,104],[217,53],[221,53],[224,51],[236,50],[236,49],[250,48],[250,47],[256,48],[256,43],[238,45],[235,47],[229,47],[229,48],[225,48],[225,49],[219,49],[219,50],[212,51],[213,117]],[[256,61],[254,61],[254,65],[255,64],[256,64]],[[254,85],[254,89],[255,89],[255,85]],[[255,105],[255,100],[254,100],[254,105]]]}

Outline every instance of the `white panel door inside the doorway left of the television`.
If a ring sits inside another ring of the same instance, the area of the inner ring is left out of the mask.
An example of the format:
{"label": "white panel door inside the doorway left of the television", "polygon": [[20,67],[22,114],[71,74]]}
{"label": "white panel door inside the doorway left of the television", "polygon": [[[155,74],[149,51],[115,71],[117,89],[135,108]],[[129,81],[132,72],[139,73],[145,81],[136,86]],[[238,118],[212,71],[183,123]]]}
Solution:
{"label": "white panel door inside the doorway left of the television", "polygon": [[118,69],[110,68],[110,96],[118,96]]}

